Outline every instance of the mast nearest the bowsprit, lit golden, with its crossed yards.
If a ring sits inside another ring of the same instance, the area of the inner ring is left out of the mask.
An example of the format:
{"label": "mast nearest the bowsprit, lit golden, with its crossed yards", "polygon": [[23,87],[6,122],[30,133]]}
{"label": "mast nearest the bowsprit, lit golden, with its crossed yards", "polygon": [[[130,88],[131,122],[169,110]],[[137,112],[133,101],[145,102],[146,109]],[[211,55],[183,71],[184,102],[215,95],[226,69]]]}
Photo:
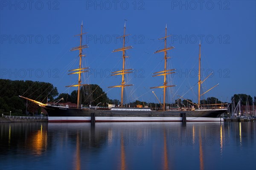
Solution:
{"label": "mast nearest the bowsprit, lit golden, with its crossed yards", "polygon": [[[75,51],[75,50],[79,50],[79,68],[78,69],[73,69],[73,70],[69,70],[71,71],[75,71],[75,72],[71,72],[70,74],[78,74],[78,84],[77,85],[69,85],[66,87],[78,87],[78,91],[77,91],[77,106],[76,108],[80,108],[80,86],[83,85],[88,85],[88,84],[81,84],[81,73],[87,72],[88,68],[82,68],[82,57],[85,57],[85,55],[82,54],[82,49],[83,48],[88,48],[88,45],[82,45],[82,36],[83,34],[83,22],[81,23],[81,34],[75,35],[76,36],[80,36],[80,45],[78,47],[74,47],[71,48],[70,51]],[[69,75],[69,74],[68,74]]]}

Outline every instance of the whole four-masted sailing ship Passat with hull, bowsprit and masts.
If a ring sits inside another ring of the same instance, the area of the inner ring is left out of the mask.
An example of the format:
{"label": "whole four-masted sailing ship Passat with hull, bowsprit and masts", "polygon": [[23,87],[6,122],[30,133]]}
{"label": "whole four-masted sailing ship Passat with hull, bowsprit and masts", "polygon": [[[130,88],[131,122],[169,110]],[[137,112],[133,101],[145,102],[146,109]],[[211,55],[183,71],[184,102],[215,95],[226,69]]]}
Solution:
{"label": "whole four-masted sailing ship Passat with hull, bowsprit and masts", "polygon": [[[125,68],[125,59],[128,57],[125,55],[125,51],[131,49],[132,46],[125,46],[125,38],[128,34],[125,34],[126,26],[124,26],[124,34],[123,36],[119,37],[123,39],[122,48],[118,48],[113,52],[122,51],[122,70],[112,72],[113,75],[121,75],[122,82],[121,85],[111,86],[109,88],[121,88],[121,105],[120,107],[109,107],[109,108],[98,108],[96,107],[89,107],[89,108],[82,108],[80,105],[80,88],[81,86],[88,85],[88,84],[81,84],[81,73],[87,72],[88,68],[82,68],[81,60],[84,56],[82,54],[82,49],[87,48],[88,45],[82,45],[82,32],[83,24],[81,24],[81,34],[80,36],[80,45],[75,48],[71,48],[70,51],[79,50],[79,68],[70,70],[70,74],[78,74],[78,84],[77,85],[70,85],[67,87],[78,87],[78,97],[77,97],[77,107],[71,108],[68,105],[61,106],[61,105],[52,105],[52,104],[44,104],[33,99],[26,98],[24,96],[20,96],[24,99],[32,101],[39,105],[40,107],[44,108],[48,113],[48,120],[49,122],[180,122],[180,121],[223,121],[223,118],[220,117],[221,113],[227,111],[226,108],[218,108],[218,109],[203,109],[200,108],[200,86],[203,81],[201,81],[200,77],[200,60],[201,60],[201,53],[200,48],[201,44],[199,45],[199,81],[198,81],[198,109],[186,110],[179,108],[179,109],[166,109],[166,88],[173,87],[174,85],[167,85],[166,75],[172,74],[175,69],[168,70],[166,68],[166,61],[169,57],[167,57],[167,51],[173,49],[174,47],[167,47],[166,41],[167,38],[167,26],[165,28],[165,37],[160,38],[159,40],[164,40],[165,47],[162,50],[158,50],[155,53],[164,52],[164,59],[165,59],[165,67],[163,71],[158,71],[154,73],[154,76],[163,76],[164,82],[163,86],[157,86],[154,88],[163,88],[164,95],[163,95],[163,109],[162,110],[151,110],[151,108],[137,108],[137,107],[124,107],[123,105],[123,94],[124,88],[127,86],[131,86],[126,84],[125,82],[125,74],[129,74],[132,72],[132,69]],[[153,89],[154,89],[153,88]]]}

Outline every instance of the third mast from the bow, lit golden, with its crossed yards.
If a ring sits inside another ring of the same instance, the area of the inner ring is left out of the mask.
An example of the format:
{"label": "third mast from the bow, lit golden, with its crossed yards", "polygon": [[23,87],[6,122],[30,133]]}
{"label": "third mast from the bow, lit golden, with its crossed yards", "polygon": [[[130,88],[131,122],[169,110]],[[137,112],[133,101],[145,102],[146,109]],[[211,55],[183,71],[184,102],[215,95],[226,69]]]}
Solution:
{"label": "third mast from the bow, lit golden, with its crossed yards", "polygon": [[167,74],[175,73],[175,72],[170,72],[170,71],[174,71],[175,69],[167,70],[167,68],[166,68],[166,66],[167,66],[167,59],[170,58],[170,57],[167,57],[167,51],[174,48],[172,46],[167,48],[167,46],[166,46],[167,37],[170,37],[170,36],[172,36],[172,35],[167,35],[167,24],[166,24],[165,37],[158,39],[158,40],[164,39],[164,48],[154,52],[154,54],[160,53],[160,52],[164,52],[164,71],[155,72],[155,73],[153,73],[154,75],[152,76],[152,77],[163,76],[163,86],[152,87],[152,88],[163,88],[163,111],[165,111],[165,108],[166,108],[166,88],[175,86],[175,85],[167,85],[167,81],[166,81],[166,75]]}

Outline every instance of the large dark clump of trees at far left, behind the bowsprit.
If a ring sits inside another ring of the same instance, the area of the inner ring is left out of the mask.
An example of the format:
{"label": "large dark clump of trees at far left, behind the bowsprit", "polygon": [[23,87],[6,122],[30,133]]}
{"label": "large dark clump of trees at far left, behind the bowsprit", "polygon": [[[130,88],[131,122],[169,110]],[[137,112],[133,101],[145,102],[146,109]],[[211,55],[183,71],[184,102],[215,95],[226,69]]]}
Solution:
{"label": "large dark clump of trees at far left, behind the bowsprit", "polygon": [[[47,96],[49,100],[53,100],[57,95],[58,90],[51,83],[0,79],[0,114],[8,114],[10,111],[12,115],[26,113],[25,102],[19,96],[45,103]],[[29,109],[37,109],[35,105],[29,105],[29,107],[31,107]]]}

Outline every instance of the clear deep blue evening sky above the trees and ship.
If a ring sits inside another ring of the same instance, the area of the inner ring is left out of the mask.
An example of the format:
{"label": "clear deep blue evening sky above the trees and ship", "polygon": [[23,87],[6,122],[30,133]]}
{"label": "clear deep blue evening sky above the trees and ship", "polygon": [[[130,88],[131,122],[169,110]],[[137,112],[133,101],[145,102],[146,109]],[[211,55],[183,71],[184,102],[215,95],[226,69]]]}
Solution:
{"label": "clear deep blue evening sky above the trees and ship", "polygon": [[[151,77],[162,71],[163,54],[154,51],[164,47],[167,24],[167,45],[171,57],[169,68],[176,68],[168,85],[169,101],[177,95],[197,101],[198,44],[201,41],[202,74],[213,75],[203,84],[203,91],[220,83],[204,98],[217,97],[230,101],[234,94],[256,96],[256,3],[248,1],[0,1],[0,78],[50,82],[59,93],[76,82],[67,70],[77,68],[81,21],[85,63],[90,73],[82,80],[99,84],[111,99],[120,99],[121,77],[110,77],[110,71],[122,67],[122,47],[116,39],[131,34],[127,45],[127,68],[134,68],[126,89],[127,101],[134,99],[155,102],[150,87],[163,84],[163,77]],[[71,65],[70,63],[73,63]],[[87,79],[87,77],[89,77]],[[194,86],[194,88],[192,88]],[[189,90],[192,88],[192,90]],[[163,89],[154,90],[163,99]]]}

